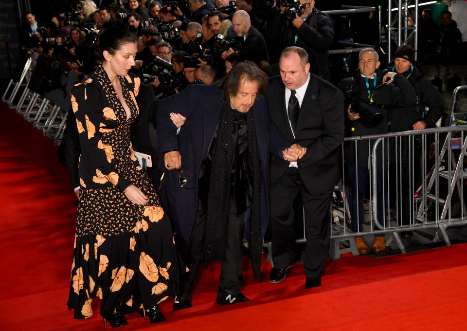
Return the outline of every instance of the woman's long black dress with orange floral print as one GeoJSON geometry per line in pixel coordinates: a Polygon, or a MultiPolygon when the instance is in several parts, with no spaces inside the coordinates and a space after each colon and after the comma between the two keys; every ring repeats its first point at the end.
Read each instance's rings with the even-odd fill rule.
{"type": "Polygon", "coordinates": [[[77,319],[92,315],[93,297],[112,313],[120,300],[149,309],[176,294],[179,265],[170,221],[129,138],[138,115],[140,80],[130,75],[119,79],[129,119],[102,65],[71,96],[82,149],[68,300],[77,319]],[[149,202],[131,203],[123,193],[130,184],[149,202]]]}

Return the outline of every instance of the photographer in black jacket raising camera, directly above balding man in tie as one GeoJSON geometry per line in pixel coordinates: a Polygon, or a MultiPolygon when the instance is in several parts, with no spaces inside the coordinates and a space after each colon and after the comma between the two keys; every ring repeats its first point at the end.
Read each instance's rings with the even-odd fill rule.
{"type": "MultiPolygon", "coordinates": [[[[271,50],[269,40],[267,41],[271,63],[278,61],[280,53],[286,47],[298,46],[305,49],[308,54],[310,72],[329,80],[328,49],[334,38],[334,23],[329,16],[314,8],[314,0],[300,0],[300,3],[305,7],[305,10],[302,15],[296,15],[292,21],[287,20],[284,15],[279,19],[280,14],[277,13],[277,9],[276,14],[271,14],[272,16],[268,20],[268,23],[273,26],[281,24],[279,29],[274,29],[273,26],[269,27],[272,32],[269,38],[277,39],[277,34],[273,33],[277,31],[279,31],[280,36],[280,44],[275,50],[271,50]]],[[[282,12],[286,9],[287,7],[281,5],[282,12]]]]}

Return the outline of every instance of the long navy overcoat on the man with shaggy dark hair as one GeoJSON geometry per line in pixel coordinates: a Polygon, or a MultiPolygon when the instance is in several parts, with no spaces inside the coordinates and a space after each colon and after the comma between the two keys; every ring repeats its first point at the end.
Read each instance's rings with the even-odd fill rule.
{"type": "MultiPolygon", "coordinates": [[[[222,95],[214,86],[188,85],[186,90],[162,100],[157,108],[157,133],[162,153],[179,150],[181,165],[189,173],[187,187],[198,187],[198,171],[206,158],[214,131],[222,110],[222,95]],[[177,128],[170,120],[170,112],[186,117],[177,136],[177,128]]],[[[290,144],[270,121],[264,97],[260,96],[249,111],[253,111],[256,140],[261,164],[260,219],[264,236],[269,221],[269,153],[282,157],[282,150],[290,144]]],[[[286,164],[285,161],[283,161],[286,164]]],[[[174,231],[183,239],[190,238],[195,221],[198,191],[180,187],[177,172],[165,171],[162,180],[161,199],[164,210],[172,220],[174,231]]],[[[245,213],[246,229],[249,229],[248,210],[245,213]]]]}

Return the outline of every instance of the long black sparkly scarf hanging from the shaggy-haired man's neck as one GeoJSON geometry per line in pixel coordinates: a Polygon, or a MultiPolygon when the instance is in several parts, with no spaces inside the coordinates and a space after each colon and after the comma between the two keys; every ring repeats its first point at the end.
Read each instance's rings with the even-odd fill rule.
{"type": "MultiPolygon", "coordinates": [[[[261,173],[256,144],[256,131],[253,111],[247,112],[248,161],[252,174],[253,194],[250,211],[249,249],[251,265],[255,278],[261,269],[261,225],[259,217],[259,196],[261,173]]],[[[230,106],[230,98],[222,104],[217,139],[213,152],[213,163],[209,179],[206,233],[204,237],[204,261],[209,264],[212,258],[225,258],[227,246],[227,229],[230,210],[230,173],[232,167],[232,131],[234,115],[230,106]]]]}

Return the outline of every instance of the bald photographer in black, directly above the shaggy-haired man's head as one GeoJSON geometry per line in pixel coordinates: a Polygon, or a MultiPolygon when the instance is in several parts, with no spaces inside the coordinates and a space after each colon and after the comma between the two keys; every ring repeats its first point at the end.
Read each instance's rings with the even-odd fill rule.
{"type": "MultiPolygon", "coordinates": [[[[261,33],[251,26],[250,15],[244,10],[237,11],[232,18],[232,25],[237,37],[242,43],[242,49],[239,51],[240,60],[249,60],[261,67],[261,62],[269,62],[268,49],[266,41],[261,33]]],[[[222,58],[234,53],[230,48],[222,54],[222,58]]]]}

